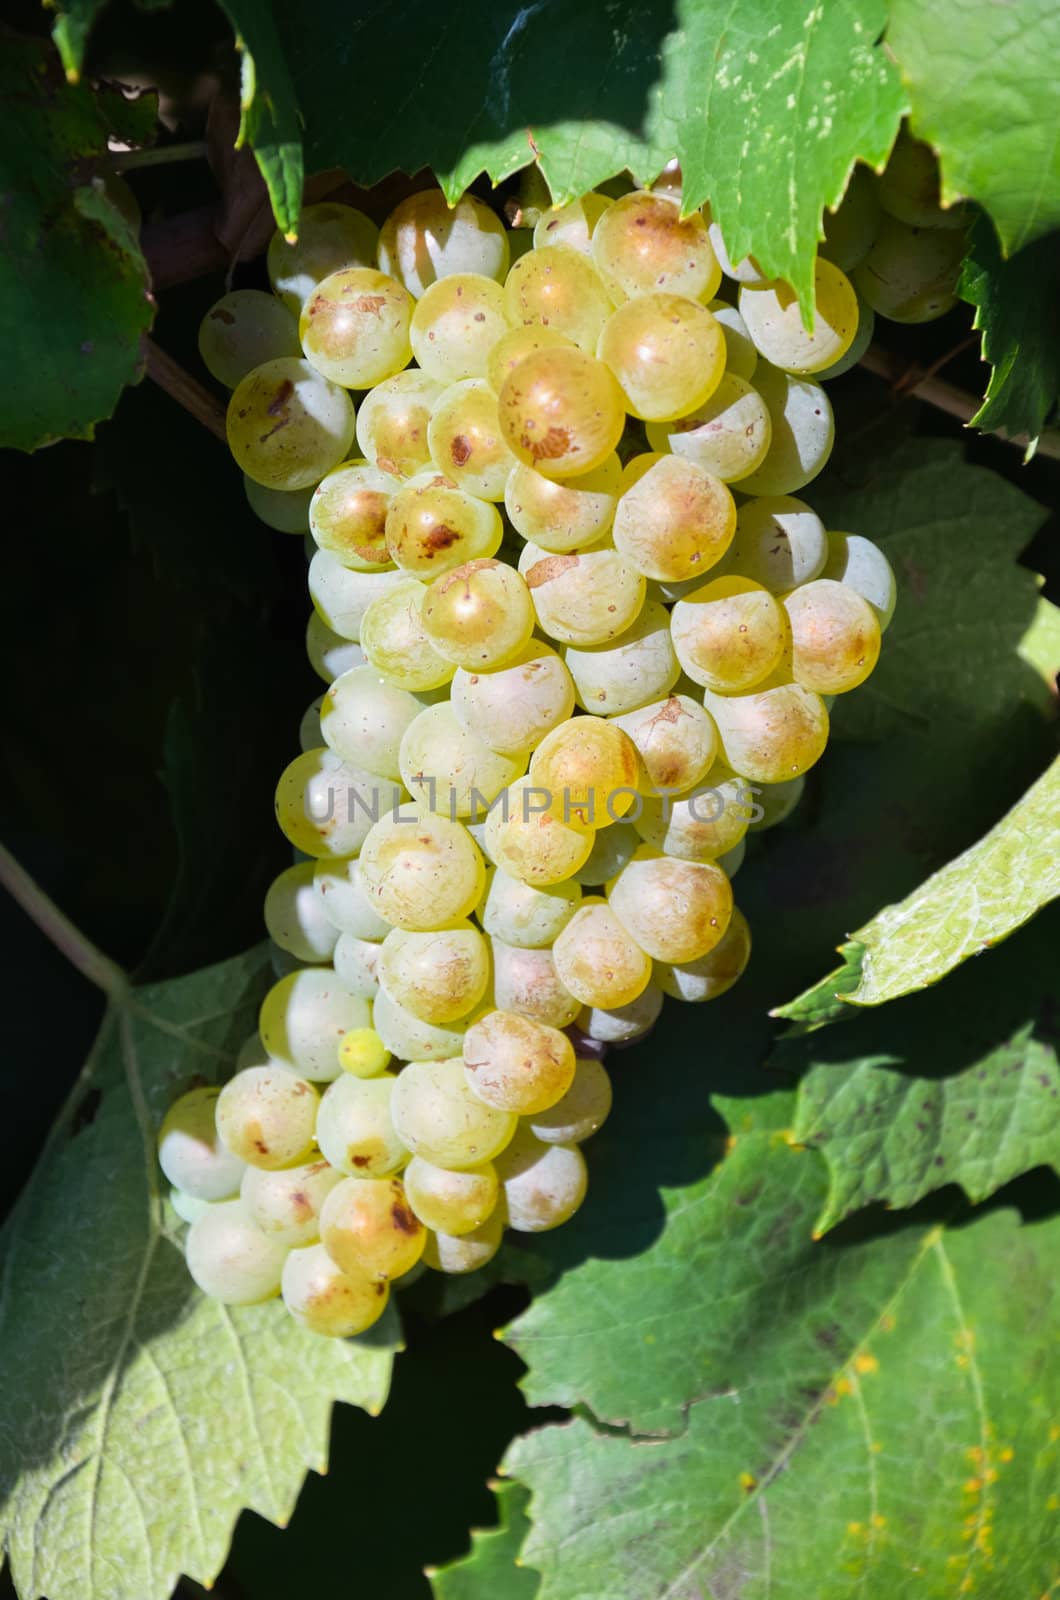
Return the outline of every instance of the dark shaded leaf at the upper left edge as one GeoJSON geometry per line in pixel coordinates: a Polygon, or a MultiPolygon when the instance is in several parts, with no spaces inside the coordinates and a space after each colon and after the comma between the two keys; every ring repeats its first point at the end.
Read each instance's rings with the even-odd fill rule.
{"type": "Polygon", "coordinates": [[[0,61],[0,445],[91,438],[139,376],[154,320],[136,235],[88,178],[107,138],[146,139],[154,98],[62,80],[45,43],[5,38],[0,61]]]}

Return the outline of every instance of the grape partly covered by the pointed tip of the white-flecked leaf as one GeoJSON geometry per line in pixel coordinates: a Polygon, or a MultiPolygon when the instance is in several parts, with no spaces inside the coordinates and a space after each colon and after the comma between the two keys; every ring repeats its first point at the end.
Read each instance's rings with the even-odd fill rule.
{"type": "Polygon", "coordinates": [[[813,330],[802,325],[796,291],[780,278],[740,290],[740,315],[756,349],[786,373],[820,373],[844,355],[857,333],[858,301],[837,266],[818,258],[813,267],[813,330]]]}

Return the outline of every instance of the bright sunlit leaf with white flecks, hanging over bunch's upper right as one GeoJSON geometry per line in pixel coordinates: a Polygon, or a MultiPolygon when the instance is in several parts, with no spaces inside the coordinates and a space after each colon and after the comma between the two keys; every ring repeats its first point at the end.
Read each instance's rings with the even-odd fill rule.
{"type": "Polygon", "coordinates": [[[679,0],[668,43],[685,206],[711,202],[732,261],[754,254],[813,304],[821,206],[858,157],[887,158],[905,110],[877,48],[882,0],[679,0]]]}

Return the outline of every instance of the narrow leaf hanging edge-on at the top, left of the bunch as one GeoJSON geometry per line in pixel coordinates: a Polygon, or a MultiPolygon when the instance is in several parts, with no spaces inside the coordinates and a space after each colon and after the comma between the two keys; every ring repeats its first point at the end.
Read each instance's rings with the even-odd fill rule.
{"type": "MultiPolygon", "coordinates": [[[[271,0],[221,0],[221,10],[243,58],[235,144],[251,146],[277,226],[296,234],[304,179],[301,112],[271,0]]],[[[315,86],[309,88],[315,94],[315,86]]]]}

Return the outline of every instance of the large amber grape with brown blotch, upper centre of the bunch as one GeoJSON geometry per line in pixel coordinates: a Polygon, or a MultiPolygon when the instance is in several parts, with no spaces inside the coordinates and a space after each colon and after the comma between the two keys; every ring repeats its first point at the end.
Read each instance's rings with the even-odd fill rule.
{"type": "MultiPolygon", "coordinates": [[[[564,254],[581,261],[573,250],[564,254]]],[[[626,426],[618,382],[604,362],[584,350],[535,350],[524,357],[504,379],[496,406],[512,454],[548,478],[584,477],[602,466],[626,426]]]]}

